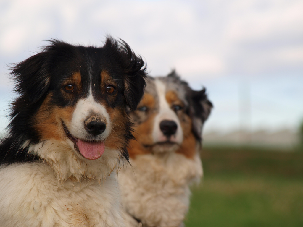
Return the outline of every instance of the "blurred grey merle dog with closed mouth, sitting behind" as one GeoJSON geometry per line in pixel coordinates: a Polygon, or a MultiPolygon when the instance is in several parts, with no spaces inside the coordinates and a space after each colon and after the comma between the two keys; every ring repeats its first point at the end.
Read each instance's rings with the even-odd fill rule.
{"type": "Polygon", "coordinates": [[[205,89],[191,90],[175,71],[149,78],[130,113],[137,140],[129,145],[132,168],[119,172],[123,206],[137,220],[130,226],[183,226],[189,185],[203,174],[201,132],[211,108],[205,89]]]}

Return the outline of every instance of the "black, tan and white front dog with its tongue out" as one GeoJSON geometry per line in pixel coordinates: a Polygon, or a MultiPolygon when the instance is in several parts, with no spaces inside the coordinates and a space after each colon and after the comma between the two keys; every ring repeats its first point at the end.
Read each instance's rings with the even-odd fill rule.
{"type": "Polygon", "coordinates": [[[100,48],[52,40],[12,67],[19,96],[0,145],[0,226],[125,226],[116,170],[128,162],[127,109],[143,95],[143,66],[108,38],[100,48]]]}

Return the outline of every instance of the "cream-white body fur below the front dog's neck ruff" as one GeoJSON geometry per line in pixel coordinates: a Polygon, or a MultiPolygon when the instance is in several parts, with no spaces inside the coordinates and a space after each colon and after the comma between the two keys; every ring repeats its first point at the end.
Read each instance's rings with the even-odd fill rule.
{"type": "Polygon", "coordinates": [[[0,226],[124,226],[117,175],[59,183],[43,163],[0,168],[0,226]]]}

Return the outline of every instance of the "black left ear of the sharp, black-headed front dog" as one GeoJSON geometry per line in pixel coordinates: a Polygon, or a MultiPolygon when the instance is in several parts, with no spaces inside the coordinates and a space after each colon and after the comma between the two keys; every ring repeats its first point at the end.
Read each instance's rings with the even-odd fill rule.
{"type": "Polygon", "coordinates": [[[15,91],[27,96],[31,103],[37,102],[50,84],[50,75],[45,70],[47,52],[31,56],[13,67],[12,77],[16,82],[15,91]]]}

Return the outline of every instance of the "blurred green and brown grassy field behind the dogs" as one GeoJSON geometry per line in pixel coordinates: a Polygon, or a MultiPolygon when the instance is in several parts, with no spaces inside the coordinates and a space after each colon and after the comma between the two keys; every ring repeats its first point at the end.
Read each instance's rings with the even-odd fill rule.
{"type": "Polygon", "coordinates": [[[208,148],[185,220],[195,226],[303,226],[303,153],[208,148]]]}

